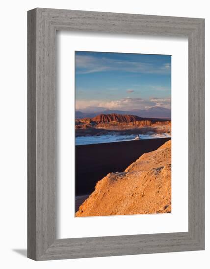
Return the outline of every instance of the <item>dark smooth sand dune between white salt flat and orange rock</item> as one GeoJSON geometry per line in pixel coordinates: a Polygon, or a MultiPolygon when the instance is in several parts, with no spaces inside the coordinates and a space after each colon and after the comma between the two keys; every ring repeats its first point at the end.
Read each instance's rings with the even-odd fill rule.
{"type": "MultiPolygon", "coordinates": [[[[76,196],[94,191],[108,173],[122,172],[142,154],[157,150],[171,138],[76,146],[76,196]]],[[[79,202],[77,202],[78,207],[79,202]]]]}

